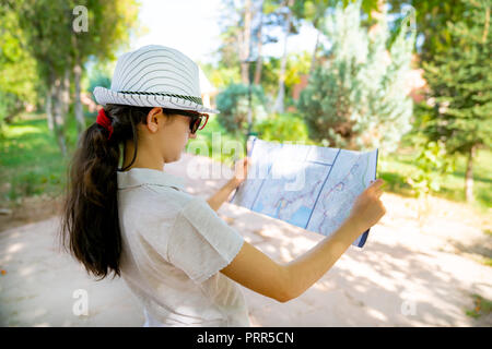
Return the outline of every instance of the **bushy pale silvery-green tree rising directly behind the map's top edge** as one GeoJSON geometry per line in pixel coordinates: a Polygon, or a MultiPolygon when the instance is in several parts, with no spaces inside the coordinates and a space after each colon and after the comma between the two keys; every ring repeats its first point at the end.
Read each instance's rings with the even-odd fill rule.
{"type": "Polygon", "coordinates": [[[354,149],[396,149],[410,130],[412,101],[405,92],[414,33],[405,25],[393,45],[386,15],[361,27],[361,2],[338,5],[327,17],[331,41],[326,60],[309,77],[298,109],[309,136],[325,144],[354,149]]]}

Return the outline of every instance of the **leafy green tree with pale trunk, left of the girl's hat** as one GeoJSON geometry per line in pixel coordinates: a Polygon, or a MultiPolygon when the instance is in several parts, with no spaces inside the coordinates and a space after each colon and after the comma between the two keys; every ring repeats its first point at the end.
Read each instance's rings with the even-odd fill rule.
{"type": "MultiPolygon", "coordinates": [[[[46,94],[46,115],[61,153],[67,154],[67,121],[71,79],[75,87],[75,115],[81,116],[80,80],[89,57],[113,59],[137,21],[134,0],[7,0],[4,13],[15,15],[21,47],[36,61],[40,89],[46,94]],[[82,5],[82,12],[75,8],[82,5]],[[82,16],[81,31],[75,31],[82,16]],[[130,32],[129,32],[130,31],[130,32]]],[[[2,12],[3,13],[3,12],[2,12]]],[[[3,27],[3,21],[0,24],[3,27]]]]}

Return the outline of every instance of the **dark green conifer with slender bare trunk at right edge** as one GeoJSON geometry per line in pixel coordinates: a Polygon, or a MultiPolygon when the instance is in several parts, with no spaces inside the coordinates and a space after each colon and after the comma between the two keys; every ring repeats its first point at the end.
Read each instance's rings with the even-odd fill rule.
{"type": "Polygon", "coordinates": [[[447,154],[467,157],[465,192],[473,200],[473,158],[492,144],[491,1],[466,1],[461,20],[447,22],[449,48],[424,62],[430,93],[417,128],[447,154]]]}

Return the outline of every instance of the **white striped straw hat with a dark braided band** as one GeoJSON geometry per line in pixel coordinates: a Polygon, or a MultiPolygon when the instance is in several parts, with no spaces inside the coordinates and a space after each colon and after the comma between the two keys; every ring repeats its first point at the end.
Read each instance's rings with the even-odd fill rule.
{"type": "Polygon", "coordinates": [[[122,55],[116,63],[112,88],[97,86],[99,105],[163,107],[219,113],[201,100],[198,65],[178,50],[149,45],[122,55]]]}

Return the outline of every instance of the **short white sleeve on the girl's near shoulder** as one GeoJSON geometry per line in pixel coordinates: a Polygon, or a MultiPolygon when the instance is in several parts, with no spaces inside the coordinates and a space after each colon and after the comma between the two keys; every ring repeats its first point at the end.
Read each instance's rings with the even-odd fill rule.
{"type": "Polygon", "coordinates": [[[167,257],[195,282],[201,284],[227,266],[244,238],[230,227],[202,197],[189,201],[176,217],[167,257]]]}

